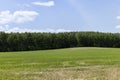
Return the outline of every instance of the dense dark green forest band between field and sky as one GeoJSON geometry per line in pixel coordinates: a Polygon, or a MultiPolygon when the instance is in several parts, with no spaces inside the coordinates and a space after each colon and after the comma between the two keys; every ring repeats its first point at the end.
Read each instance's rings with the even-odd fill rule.
{"type": "Polygon", "coordinates": [[[4,33],[0,32],[0,51],[46,50],[70,47],[120,47],[119,33],[4,33]]]}

